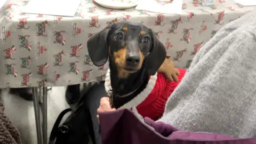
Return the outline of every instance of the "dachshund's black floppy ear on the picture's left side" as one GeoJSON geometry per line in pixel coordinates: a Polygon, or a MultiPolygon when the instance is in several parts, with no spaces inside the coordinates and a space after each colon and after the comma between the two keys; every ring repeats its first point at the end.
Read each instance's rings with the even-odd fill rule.
{"type": "Polygon", "coordinates": [[[87,49],[93,65],[100,67],[108,60],[108,32],[110,26],[93,34],[87,41],[87,49]]]}

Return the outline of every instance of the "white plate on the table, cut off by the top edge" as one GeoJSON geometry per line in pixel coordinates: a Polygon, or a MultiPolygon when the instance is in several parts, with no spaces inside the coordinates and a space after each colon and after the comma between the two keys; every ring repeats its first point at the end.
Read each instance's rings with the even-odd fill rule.
{"type": "Polygon", "coordinates": [[[136,6],[138,0],[94,0],[94,2],[109,9],[129,9],[136,6]]]}

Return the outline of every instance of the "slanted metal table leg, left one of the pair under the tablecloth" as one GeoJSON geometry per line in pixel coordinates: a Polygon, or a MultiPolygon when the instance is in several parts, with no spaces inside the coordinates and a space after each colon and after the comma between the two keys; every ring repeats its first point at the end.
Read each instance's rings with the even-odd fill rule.
{"type": "Polygon", "coordinates": [[[40,122],[40,106],[37,94],[37,87],[33,87],[32,90],[33,94],[33,102],[34,102],[34,109],[35,109],[35,119],[36,119],[36,133],[37,133],[37,143],[42,144],[42,131],[41,131],[41,122],[40,122]]]}

